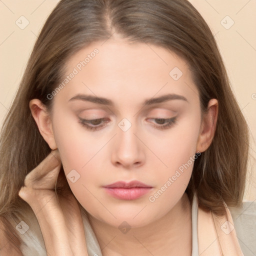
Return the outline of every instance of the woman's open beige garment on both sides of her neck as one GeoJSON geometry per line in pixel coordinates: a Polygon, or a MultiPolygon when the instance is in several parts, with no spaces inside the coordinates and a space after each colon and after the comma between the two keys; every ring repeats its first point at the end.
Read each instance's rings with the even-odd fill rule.
{"type": "MultiPolygon", "coordinates": [[[[234,208],[230,210],[232,215],[230,214],[229,209],[226,208],[226,215],[217,218],[214,214],[211,214],[210,211],[205,212],[198,208],[197,197],[193,197],[191,205],[191,256],[256,255],[256,201],[244,202],[241,209],[234,208]],[[233,225],[235,229],[232,229],[233,225]],[[248,232],[243,232],[244,226],[248,232]],[[235,232],[236,227],[237,234],[235,232]],[[242,245],[243,251],[241,250],[239,243],[242,245]]],[[[27,246],[23,245],[21,251],[24,256],[46,256],[45,246],[37,219],[31,211],[29,214],[29,229],[24,234],[20,234],[20,237],[26,242],[27,246]]],[[[82,213],[82,218],[88,255],[102,256],[97,238],[84,213],[82,213]]]]}

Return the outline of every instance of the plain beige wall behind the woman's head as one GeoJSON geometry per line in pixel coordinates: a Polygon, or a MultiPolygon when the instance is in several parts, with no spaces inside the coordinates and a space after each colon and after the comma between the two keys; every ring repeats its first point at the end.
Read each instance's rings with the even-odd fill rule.
{"type": "MultiPolygon", "coordinates": [[[[57,2],[0,0],[0,126],[16,92],[36,35],[57,2]],[[22,27],[26,23],[27,26],[22,27]]],[[[190,2],[215,35],[234,94],[249,124],[251,156],[244,200],[256,200],[256,1],[190,2]]]]}

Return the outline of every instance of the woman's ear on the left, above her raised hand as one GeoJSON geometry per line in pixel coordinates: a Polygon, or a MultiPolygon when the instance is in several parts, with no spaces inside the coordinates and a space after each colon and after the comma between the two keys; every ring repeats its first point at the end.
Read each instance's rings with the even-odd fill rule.
{"type": "Polygon", "coordinates": [[[56,149],[57,145],[53,135],[51,119],[46,107],[39,99],[34,98],[29,101],[29,108],[42,137],[52,150],[56,149]]]}

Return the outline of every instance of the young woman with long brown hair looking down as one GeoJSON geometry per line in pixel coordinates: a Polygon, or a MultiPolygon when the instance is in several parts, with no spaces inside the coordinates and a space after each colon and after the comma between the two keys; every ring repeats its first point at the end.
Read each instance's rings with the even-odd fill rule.
{"type": "Polygon", "coordinates": [[[2,128],[1,254],[243,255],[247,157],[188,1],[61,0],[2,128]]]}

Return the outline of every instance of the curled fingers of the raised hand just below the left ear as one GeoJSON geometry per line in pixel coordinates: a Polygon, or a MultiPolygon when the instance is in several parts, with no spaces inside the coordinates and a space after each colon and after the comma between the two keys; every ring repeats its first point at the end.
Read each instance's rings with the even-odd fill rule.
{"type": "Polygon", "coordinates": [[[52,189],[61,166],[58,149],[52,150],[24,180],[24,185],[32,188],[52,189]]]}

